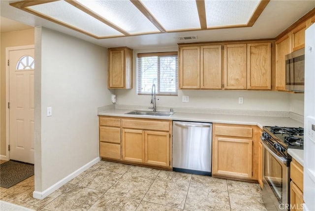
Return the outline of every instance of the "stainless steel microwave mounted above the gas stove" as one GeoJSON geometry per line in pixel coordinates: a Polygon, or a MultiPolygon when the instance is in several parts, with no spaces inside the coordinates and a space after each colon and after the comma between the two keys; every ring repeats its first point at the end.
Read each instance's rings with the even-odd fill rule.
{"type": "Polygon", "coordinates": [[[285,89],[304,92],[304,48],[285,55],[285,89]]]}

